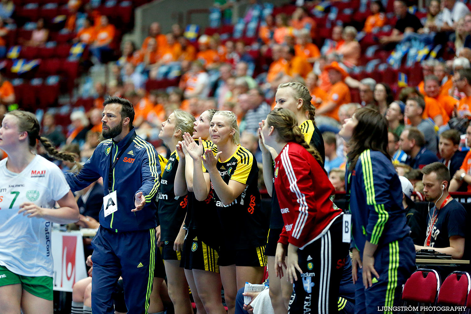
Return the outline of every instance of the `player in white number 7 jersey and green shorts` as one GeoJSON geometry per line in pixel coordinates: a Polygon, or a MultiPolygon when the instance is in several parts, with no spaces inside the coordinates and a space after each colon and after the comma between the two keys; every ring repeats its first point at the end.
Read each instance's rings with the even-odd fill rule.
{"type": "Polygon", "coordinates": [[[58,160],[32,113],[7,113],[0,128],[0,314],[52,314],[51,223],[79,219],[79,209],[61,170],[34,152],[36,140],[58,160]],[[60,208],[53,209],[55,202],[60,208]]]}

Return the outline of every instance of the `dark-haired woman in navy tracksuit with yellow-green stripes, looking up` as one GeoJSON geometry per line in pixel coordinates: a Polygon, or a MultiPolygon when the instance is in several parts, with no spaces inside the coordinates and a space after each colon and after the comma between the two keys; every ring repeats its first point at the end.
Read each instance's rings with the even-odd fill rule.
{"type": "Polygon", "coordinates": [[[401,182],[388,154],[388,122],[381,113],[357,109],[339,135],[350,147],[345,183],[352,213],[355,308],[377,313],[379,307],[400,303],[402,284],[415,266],[401,182]],[[357,280],[360,276],[363,280],[357,280]]]}

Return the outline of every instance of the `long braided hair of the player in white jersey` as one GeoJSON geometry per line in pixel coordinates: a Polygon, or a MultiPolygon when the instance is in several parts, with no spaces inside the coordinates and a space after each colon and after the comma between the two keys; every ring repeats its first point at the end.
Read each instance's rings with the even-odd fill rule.
{"type": "Polygon", "coordinates": [[[28,144],[31,148],[36,146],[36,140],[39,140],[40,143],[44,146],[49,156],[60,161],[70,161],[75,162],[77,167],[80,169],[81,165],[79,162],[75,161],[75,158],[78,158],[75,153],[59,152],[56,147],[47,139],[46,137],[41,137],[39,132],[41,127],[39,125],[38,119],[33,113],[14,110],[7,113],[6,115],[15,116],[18,119],[18,131],[28,133],[28,144]]]}

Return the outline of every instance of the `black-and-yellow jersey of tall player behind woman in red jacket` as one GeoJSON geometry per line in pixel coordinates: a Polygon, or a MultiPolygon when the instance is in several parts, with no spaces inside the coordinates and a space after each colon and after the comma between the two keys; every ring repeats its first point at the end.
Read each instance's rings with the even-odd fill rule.
{"type": "MultiPolygon", "coordinates": [[[[304,140],[309,145],[316,147],[317,151],[322,157],[322,162],[325,162],[325,150],[324,150],[324,139],[322,138],[322,133],[319,131],[316,125],[312,120],[306,120],[300,125],[301,132],[304,134],[304,140]]],[[[273,163],[273,168],[275,169],[275,163],[273,163]]],[[[281,229],[283,228],[284,222],[283,217],[281,216],[280,204],[278,203],[278,198],[276,197],[275,192],[275,178],[273,178],[273,189],[271,197],[271,219],[270,219],[270,229],[281,229]]]]}

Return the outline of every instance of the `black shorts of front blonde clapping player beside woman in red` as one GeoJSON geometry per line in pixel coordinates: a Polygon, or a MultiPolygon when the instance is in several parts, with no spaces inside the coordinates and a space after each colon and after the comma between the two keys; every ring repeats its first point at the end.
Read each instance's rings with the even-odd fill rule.
{"type": "Polygon", "coordinates": [[[229,246],[219,250],[219,266],[267,266],[265,245],[248,249],[231,249],[229,246]]]}

